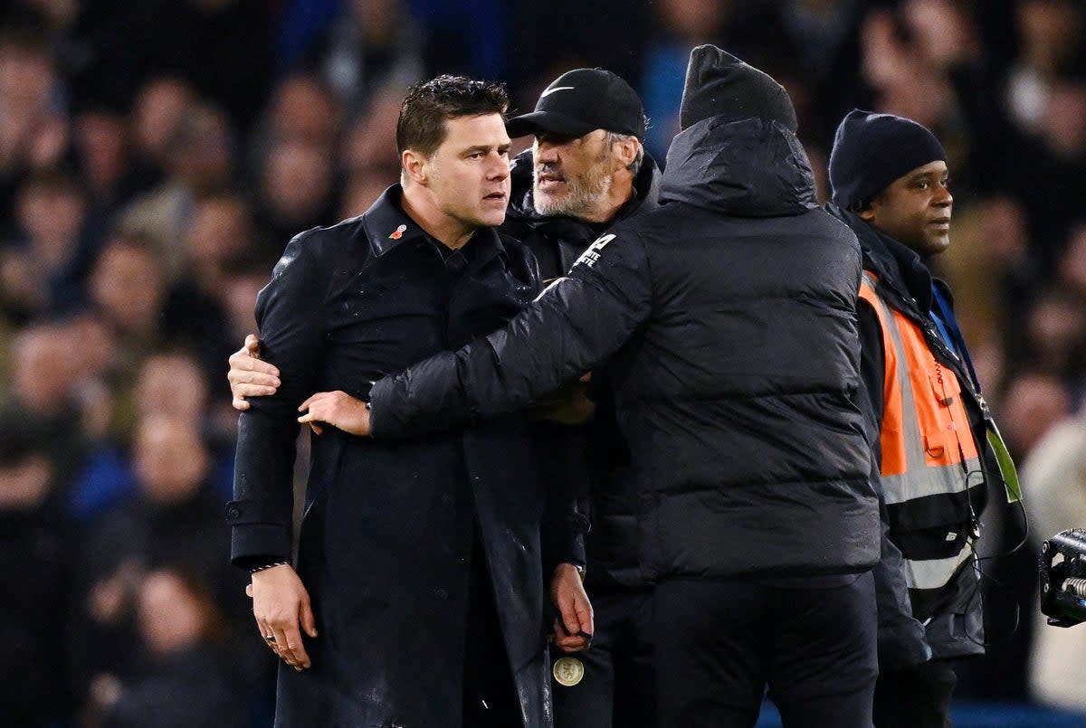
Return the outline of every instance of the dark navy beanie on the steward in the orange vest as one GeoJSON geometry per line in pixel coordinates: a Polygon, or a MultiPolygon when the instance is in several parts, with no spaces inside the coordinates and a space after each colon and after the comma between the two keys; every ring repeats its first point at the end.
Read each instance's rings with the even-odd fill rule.
{"type": "Polygon", "coordinates": [[[935,135],[912,119],[854,108],[837,127],[830,152],[833,202],[853,209],[917,167],[946,158],[935,135]]]}

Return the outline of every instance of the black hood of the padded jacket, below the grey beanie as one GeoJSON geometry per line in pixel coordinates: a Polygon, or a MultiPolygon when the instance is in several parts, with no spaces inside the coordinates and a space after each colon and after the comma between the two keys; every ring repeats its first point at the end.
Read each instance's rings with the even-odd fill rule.
{"type": "Polygon", "coordinates": [[[668,149],[660,202],[736,217],[799,215],[818,207],[803,144],[780,122],[714,116],[681,131],[668,149]]]}

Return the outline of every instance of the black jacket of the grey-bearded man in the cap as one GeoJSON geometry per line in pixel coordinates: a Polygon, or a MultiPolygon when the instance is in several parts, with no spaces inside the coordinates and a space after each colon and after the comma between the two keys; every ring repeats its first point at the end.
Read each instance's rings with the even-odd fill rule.
{"type": "MultiPolygon", "coordinates": [[[[501,230],[531,250],[544,282],[564,276],[608,228],[658,204],[660,170],[647,154],[633,180],[633,196],[607,222],[536,213],[531,150],[518,154],[512,169],[513,192],[501,230]]],[[[596,411],[589,424],[540,422],[534,427],[543,451],[541,472],[547,485],[548,508],[564,511],[546,520],[544,539],[548,548],[544,553],[550,551],[556,562],[586,563],[586,583],[593,596],[617,586],[644,585],[637,564],[637,498],[629,472],[630,451],[615,420],[607,378],[606,369],[593,373],[591,388],[596,411]],[[561,484],[565,490],[552,487],[561,484]],[[563,496],[572,505],[561,502],[563,496]],[[582,538],[590,519],[591,529],[582,538]]]]}

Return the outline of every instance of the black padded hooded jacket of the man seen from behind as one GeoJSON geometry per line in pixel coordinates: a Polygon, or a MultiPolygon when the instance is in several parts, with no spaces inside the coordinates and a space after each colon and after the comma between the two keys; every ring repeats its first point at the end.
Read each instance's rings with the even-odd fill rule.
{"type": "Polygon", "coordinates": [[[505,329],[377,382],[372,435],[507,412],[614,357],[647,578],[870,570],[855,235],[795,135],[756,118],[679,135],[660,200],[505,329]]]}

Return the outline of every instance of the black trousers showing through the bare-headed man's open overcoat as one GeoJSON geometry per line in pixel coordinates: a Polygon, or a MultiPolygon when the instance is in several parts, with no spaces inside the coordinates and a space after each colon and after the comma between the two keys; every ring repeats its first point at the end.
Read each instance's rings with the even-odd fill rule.
{"type": "Polygon", "coordinates": [[[464,649],[464,728],[522,726],[520,701],[497,620],[487,557],[476,533],[464,649]]]}

